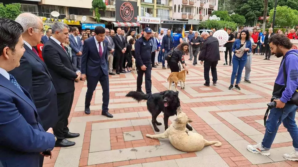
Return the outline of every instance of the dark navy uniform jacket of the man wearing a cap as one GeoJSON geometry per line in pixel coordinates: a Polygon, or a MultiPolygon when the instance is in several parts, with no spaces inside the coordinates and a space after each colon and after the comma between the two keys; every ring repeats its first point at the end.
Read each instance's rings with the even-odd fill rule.
{"type": "Polygon", "coordinates": [[[136,56],[136,64],[138,66],[142,66],[147,63],[151,63],[151,50],[152,50],[152,37],[147,41],[145,37],[141,37],[136,40],[134,44],[135,48],[135,56],[136,56]]]}

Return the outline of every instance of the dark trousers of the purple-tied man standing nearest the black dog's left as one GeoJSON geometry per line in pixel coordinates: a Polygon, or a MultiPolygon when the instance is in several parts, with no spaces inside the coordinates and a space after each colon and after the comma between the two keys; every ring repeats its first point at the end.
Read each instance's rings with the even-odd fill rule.
{"type": "Polygon", "coordinates": [[[93,96],[93,92],[97,86],[98,81],[103,90],[103,105],[102,105],[102,112],[108,112],[108,105],[110,100],[110,92],[109,92],[109,77],[105,75],[100,69],[100,73],[96,76],[86,75],[87,78],[87,92],[85,97],[85,108],[90,106],[90,102],[93,96]]]}

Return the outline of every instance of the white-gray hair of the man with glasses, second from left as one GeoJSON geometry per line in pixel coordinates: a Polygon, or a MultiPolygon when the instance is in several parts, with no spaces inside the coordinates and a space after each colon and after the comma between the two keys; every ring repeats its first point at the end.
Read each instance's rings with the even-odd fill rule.
{"type": "Polygon", "coordinates": [[[40,18],[38,18],[36,15],[33,15],[32,13],[21,13],[15,19],[15,21],[20,23],[23,27],[24,33],[26,33],[30,27],[34,28],[34,32],[36,33],[37,28],[40,26],[39,20],[40,18]]]}

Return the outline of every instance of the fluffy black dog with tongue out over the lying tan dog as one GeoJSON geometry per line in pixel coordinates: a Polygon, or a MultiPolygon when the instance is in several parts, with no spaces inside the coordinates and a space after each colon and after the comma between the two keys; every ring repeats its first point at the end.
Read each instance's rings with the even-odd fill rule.
{"type": "MultiPolygon", "coordinates": [[[[157,122],[156,118],[161,112],[164,113],[164,130],[166,130],[168,128],[169,117],[177,115],[177,108],[180,106],[178,94],[179,92],[174,92],[172,90],[154,93],[152,95],[131,91],[126,94],[126,97],[132,97],[138,102],[147,100],[147,108],[152,115],[152,124],[154,130],[159,132],[159,129],[156,127],[156,125],[162,125],[162,123],[157,122]]],[[[193,128],[188,124],[186,127],[188,130],[193,130],[193,128]]]]}

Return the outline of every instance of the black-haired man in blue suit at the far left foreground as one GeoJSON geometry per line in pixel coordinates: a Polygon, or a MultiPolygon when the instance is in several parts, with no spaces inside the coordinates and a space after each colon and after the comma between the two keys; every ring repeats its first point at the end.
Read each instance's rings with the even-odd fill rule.
{"type": "Polygon", "coordinates": [[[0,166],[36,167],[40,154],[52,154],[55,136],[38,123],[30,94],[8,73],[20,66],[25,51],[22,26],[1,18],[0,32],[0,166]]]}

